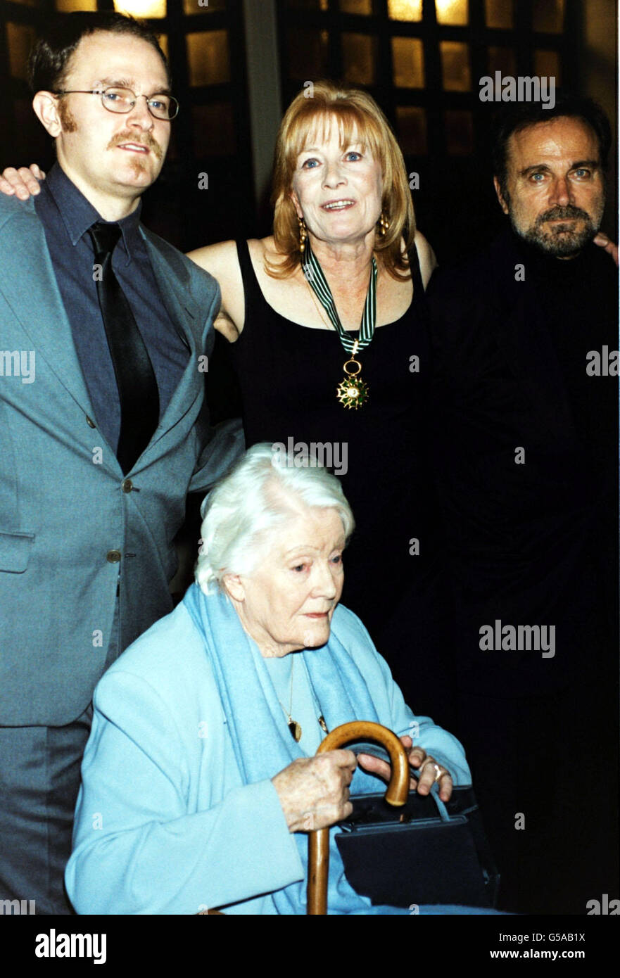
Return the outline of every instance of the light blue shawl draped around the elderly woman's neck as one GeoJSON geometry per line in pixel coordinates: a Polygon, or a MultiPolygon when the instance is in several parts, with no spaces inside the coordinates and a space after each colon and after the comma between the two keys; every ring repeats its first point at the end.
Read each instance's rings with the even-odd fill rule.
{"type": "MultiPolygon", "coordinates": [[[[283,723],[282,709],[258,646],[246,635],[235,608],[223,594],[205,596],[193,585],[184,603],[204,641],[244,783],[273,778],[295,758],[305,755],[283,723]]],[[[328,645],[291,653],[304,659],[329,730],[356,719],[381,722],[366,680],[346,647],[347,636],[359,645],[362,634],[366,635],[358,619],[340,606],[332,616],[328,645]]],[[[351,793],[380,791],[381,785],[377,778],[365,775],[358,768],[351,793]]],[[[329,912],[409,912],[371,907],[370,900],[352,889],[344,876],[333,834],[334,830],[330,838],[329,912]]],[[[306,911],[308,836],[297,832],[295,841],[304,867],[304,881],[273,894],[279,913],[306,911]]]]}

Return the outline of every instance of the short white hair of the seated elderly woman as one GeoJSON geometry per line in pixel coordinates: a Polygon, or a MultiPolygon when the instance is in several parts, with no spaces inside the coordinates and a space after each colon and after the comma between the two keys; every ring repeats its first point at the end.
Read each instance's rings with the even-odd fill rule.
{"type": "Polygon", "coordinates": [[[195,576],[204,594],[225,574],[250,575],[269,531],[305,507],[337,511],[348,540],[355,520],[335,475],[266,442],[248,449],[203,505],[195,576]]]}

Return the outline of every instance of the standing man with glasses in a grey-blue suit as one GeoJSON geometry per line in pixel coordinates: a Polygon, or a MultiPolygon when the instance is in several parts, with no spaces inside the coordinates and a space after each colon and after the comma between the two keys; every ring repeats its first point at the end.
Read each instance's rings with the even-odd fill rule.
{"type": "Polygon", "coordinates": [[[155,35],[66,15],[30,70],[58,161],[0,200],[0,901],[67,913],[93,689],[171,609],[186,494],[243,443],[203,406],[217,283],[139,220],[177,111],[155,35]]]}

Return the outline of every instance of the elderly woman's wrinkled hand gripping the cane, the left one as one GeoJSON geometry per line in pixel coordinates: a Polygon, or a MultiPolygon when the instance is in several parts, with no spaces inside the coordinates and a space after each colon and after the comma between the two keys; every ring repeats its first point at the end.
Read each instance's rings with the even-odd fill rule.
{"type": "Polygon", "coordinates": [[[352,750],[328,750],[316,757],[299,757],[272,778],[288,830],[311,832],[349,816],[353,811],[349,784],[356,767],[352,750]]]}

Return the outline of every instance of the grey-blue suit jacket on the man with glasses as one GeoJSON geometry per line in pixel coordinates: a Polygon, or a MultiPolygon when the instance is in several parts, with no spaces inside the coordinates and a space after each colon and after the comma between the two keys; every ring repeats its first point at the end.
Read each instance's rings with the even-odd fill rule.
{"type": "Polygon", "coordinates": [[[57,726],[104,671],[120,568],[120,647],[171,609],[188,491],[243,450],[209,431],[204,361],[219,287],[142,228],[191,357],[127,480],[94,409],[32,200],[0,197],[0,725],[57,726]],[[117,555],[111,552],[118,552],[117,555]]]}

